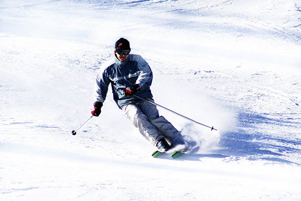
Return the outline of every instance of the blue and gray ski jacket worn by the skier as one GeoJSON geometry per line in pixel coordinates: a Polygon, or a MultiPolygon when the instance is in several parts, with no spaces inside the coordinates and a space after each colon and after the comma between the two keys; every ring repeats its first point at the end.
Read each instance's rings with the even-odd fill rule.
{"type": "Polygon", "coordinates": [[[103,63],[96,76],[95,97],[96,102],[103,103],[111,83],[113,98],[121,109],[127,104],[135,104],[141,99],[126,96],[123,90],[133,84],[139,84],[140,90],[135,95],[142,98],[152,98],[149,86],[153,81],[153,72],[146,61],[136,54],[129,54],[124,62],[116,57],[103,63]]]}

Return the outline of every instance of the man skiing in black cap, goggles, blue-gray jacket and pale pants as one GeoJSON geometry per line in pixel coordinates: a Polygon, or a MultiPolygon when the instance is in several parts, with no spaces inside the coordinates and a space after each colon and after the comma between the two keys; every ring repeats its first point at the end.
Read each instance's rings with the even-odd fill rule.
{"type": "Polygon", "coordinates": [[[128,40],[120,38],[115,43],[114,58],[101,65],[96,76],[96,102],[92,115],[100,115],[111,84],[113,98],[122,114],[159,151],[166,152],[177,145],[185,145],[181,133],[163,116],[159,116],[156,105],[136,97],[154,102],[149,88],[153,72],[140,55],[129,54],[130,50],[128,40]]]}

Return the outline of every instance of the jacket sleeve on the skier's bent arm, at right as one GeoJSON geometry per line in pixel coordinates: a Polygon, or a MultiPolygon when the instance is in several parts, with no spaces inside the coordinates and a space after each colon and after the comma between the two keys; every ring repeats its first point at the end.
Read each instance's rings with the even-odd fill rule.
{"type": "Polygon", "coordinates": [[[139,84],[140,88],[149,87],[153,81],[153,72],[141,56],[139,56],[137,60],[137,68],[138,78],[136,80],[136,84],[139,84]]]}

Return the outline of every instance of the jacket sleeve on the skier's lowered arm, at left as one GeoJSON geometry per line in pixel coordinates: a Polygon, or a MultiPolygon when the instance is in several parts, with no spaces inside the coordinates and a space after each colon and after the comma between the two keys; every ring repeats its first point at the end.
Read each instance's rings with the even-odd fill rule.
{"type": "Polygon", "coordinates": [[[96,83],[95,83],[95,92],[94,92],[94,96],[96,98],[95,102],[100,102],[103,103],[105,98],[106,98],[106,94],[108,92],[108,86],[110,84],[110,80],[107,76],[106,70],[102,69],[102,67],[100,68],[99,72],[96,75],[96,83]]]}

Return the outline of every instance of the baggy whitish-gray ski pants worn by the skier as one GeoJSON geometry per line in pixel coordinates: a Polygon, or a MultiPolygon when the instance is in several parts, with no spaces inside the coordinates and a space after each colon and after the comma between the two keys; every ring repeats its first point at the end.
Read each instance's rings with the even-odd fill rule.
{"type": "MultiPolygon", "coordinates": [[[[154,102],[153,99],[148,100],[154,102]]],[[[172,146],[185,144],[181,133],[163,116],[159,116],[157,106],[154,104],[142,100],[138,104],[122,107],[122,113],[154,146],[164,137],[171,141],[172,146]]]]}

